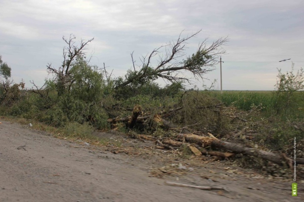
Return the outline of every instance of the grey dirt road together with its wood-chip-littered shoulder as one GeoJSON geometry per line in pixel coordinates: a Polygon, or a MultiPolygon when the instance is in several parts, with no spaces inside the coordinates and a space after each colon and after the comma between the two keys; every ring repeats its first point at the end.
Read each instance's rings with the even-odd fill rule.
{"type": "MultiPolygon", "coordinates": [[[[134,140],[123,145],[124,152],[114,154],[109,148],[61,140],[27,126],[1,122],[1,202],[304,201],[303,191],[292,197],[287,190],[292,179],[268,179],[255,171],[208,159],[183,160],[170,151],[144,149],[150,143],[141,145],[134,140]],[[178,169],[180,166],[183,169],[178,169]],[[226,187],[229,192],[173,187],[165,181],[226,187]]],[[[111,134],[105,136],[111,138],[111,134]]],[[[301,180],[298,188],[304,188],[301,180]]]]}

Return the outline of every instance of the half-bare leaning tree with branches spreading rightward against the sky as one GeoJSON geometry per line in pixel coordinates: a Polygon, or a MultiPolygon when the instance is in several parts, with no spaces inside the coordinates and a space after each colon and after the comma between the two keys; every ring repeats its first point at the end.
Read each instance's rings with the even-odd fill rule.
{"type": "Polygon", "coordinates": [[[228,41],[227,38],[219,38],[211,45],[207,46],[207,39],[199,44],[198,50],[186,59],[178,60],[184,56],[183,51],[186,49],[186,42],[195,37],[198,33],[195,32],[185,38],[179,35],[177,41],[171,42],[154,49],[150,55],[142,58],[142,65],[136,71],[135,61],[133,60],[133,53],[131,54],[133,62],[132,74],[129,75],[123,82],[118,84],[115,88],[124,87],[136,81],[145,81],[147,79],[155,80],[163,78],[171,82],[190,81],[189,78],[181,76],[183,71],[191,72],[195,78],[202,78],[207,72],[214,70],[214,65],[217,63],[217,58],[220,54],[224,54],[222,46],[228,41]],[[164,56],[161,56],[161,49],[165,49],[164,56]],[[152,59],[159,56],[158,65],[151,67],[152,59]]]}

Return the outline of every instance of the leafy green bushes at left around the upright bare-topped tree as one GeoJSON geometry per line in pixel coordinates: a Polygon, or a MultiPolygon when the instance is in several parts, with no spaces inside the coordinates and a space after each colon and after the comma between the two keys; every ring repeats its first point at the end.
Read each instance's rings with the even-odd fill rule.
{"type": "Polygon", "coordinates": [[[95,66],[78,58],[70,68],[71,83],[63,94],[58,94],[58,80],[45,81],[41,89],[32,89],[21,96],[20,87],[24,84],[12,85],[2,104],[12,106],[10,115],[35,119],[54,127],[64,127],[69,122],[89,123],[92,127],[103,129],[108,127],[108,115],[103,108],[103,100],[110,102],[111,87],[105,86],[103,75],[95,66]],[[22,99],[21,99],[22,98],[22,99]]]}

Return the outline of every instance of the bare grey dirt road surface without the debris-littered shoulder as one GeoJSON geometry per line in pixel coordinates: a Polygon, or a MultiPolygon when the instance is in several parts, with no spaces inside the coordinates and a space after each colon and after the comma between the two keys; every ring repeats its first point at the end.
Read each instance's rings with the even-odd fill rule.
{"type": "MultiPolygon", "coordinates": [[[[1,202],[303,201],[300,191],[302,197],[292,198],[291,191],[273,188],[279,184],[244,177],[219,179],[214,185],[227,187],[229,193],[172,187],[164,184],[165,179],[149,177],[151,166],[153,162],[93,150],[16,123],[0,124],[1,202]]],[[[196,185],[206,184],[198,172],[196,169],[187,179],[193,179],[196,185]]]]}

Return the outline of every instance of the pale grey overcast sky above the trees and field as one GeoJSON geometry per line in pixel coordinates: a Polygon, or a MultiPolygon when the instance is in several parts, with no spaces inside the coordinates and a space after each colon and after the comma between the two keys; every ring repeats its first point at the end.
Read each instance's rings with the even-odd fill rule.
{"type": "MultiPolygon", "coordinates": [[[[62,62],[62,36],[95,38],[87,49],[91,64],[108,66],[115,76],[140,56],[182,36],[202,30],[188,41],[186,54],[200,41],[228,36],[222,55],[223,90],[273,90],[277,68],[304,66],[303,0],[0,0],[0,55],[23,78],[42,85],[46,65],[62,62]],[[278,62],[291,58],[289,61],[278,62]]],[[[217,79],[219,64],[205,75],[217,79]]],[[[195,81],[202,88],[201,81],[195,81]]],[[[209,82],[206,80],[206,84],[209,82]]]]}

